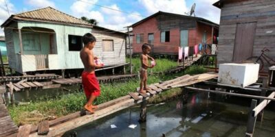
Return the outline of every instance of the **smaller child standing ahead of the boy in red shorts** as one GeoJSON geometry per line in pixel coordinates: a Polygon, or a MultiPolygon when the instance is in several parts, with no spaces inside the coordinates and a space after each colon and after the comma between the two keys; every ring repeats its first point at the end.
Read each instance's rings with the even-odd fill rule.
{"type": "Polygon", "coordinates": [[[153,58],[151,58],[148,53],[150,53],[151,51],[151,47],[150,45],[148,45],[147,43],[144,43],[144,45],[142,45],[142,54],[140,55],[140,61],[142,66],[140,67],[140,92],[142,93],[146,93],[145,90],[148,90],[147,87],[147,69],[148,68],[153,68],[152,65],[149,66],[148,64],[148,58],[151,60],[154,60],[153,58]]]}

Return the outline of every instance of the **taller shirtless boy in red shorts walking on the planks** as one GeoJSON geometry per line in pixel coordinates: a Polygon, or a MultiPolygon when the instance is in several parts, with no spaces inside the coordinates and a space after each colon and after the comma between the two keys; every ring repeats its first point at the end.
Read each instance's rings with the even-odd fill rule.
{"type": "Polygon", "coordinates": [[[95,69],[101,66],[94,63],[94,53],[91,51],[96,45],[96,38],[92,34],[87,33],[83,36],[83,44],[84,47],[80,51],[80,58],[84,65],[84,71],[81,77],[87,97],[87,103],[84,108],[93,114],[94,109],[98,108],[97,105],[93,105],[94,99],[100,95],[100,86],[95,75],[95,69]]]}

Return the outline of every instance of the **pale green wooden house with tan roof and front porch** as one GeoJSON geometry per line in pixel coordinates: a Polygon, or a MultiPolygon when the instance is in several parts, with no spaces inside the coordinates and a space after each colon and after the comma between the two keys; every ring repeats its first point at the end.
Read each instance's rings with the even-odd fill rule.
{"type": "Polygon", "coordinates": [[[125,35],[93,26],[54,8],[14,14],[5,21],[5,40],[10,68],[19,73],[45,70],[83,69],[82,36],[97,38],[94,54],[106,66],[125,63],[125,35]]]}

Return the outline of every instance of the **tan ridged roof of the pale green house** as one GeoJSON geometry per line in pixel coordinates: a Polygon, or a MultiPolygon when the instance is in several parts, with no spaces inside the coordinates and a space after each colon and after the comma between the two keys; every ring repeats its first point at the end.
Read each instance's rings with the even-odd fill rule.
{"type": "Polygon", "coordinates": [[[80,18],[70,16],[61,11],[58,11],[52,7],[41,8],[38,10],[32,10],[29,12],[23,12],[20,14],[14,14],[8,18],[1,27],[5,27],[10,21],[23,20],[23,21],[37,21],[37,22],[47,22],[47,23],[57,23],[65,25],[80,25],[83,27],[93,27],[91,23],[83,21],[80,18]]]}

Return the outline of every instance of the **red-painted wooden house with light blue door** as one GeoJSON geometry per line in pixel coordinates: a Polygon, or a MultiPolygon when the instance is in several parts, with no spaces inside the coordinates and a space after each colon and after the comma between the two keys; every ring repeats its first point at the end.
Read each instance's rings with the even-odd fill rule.
{"type": "Polygon", "coordinates": [[[204,18],[157,12],[131,25],[133,27],[133,53],[142,52],[144,42],[153,45],[155,54],[177,55],[180,47],[193,47],[199,43],[213,44],[218,37],[219,25],[204,18]]]}

